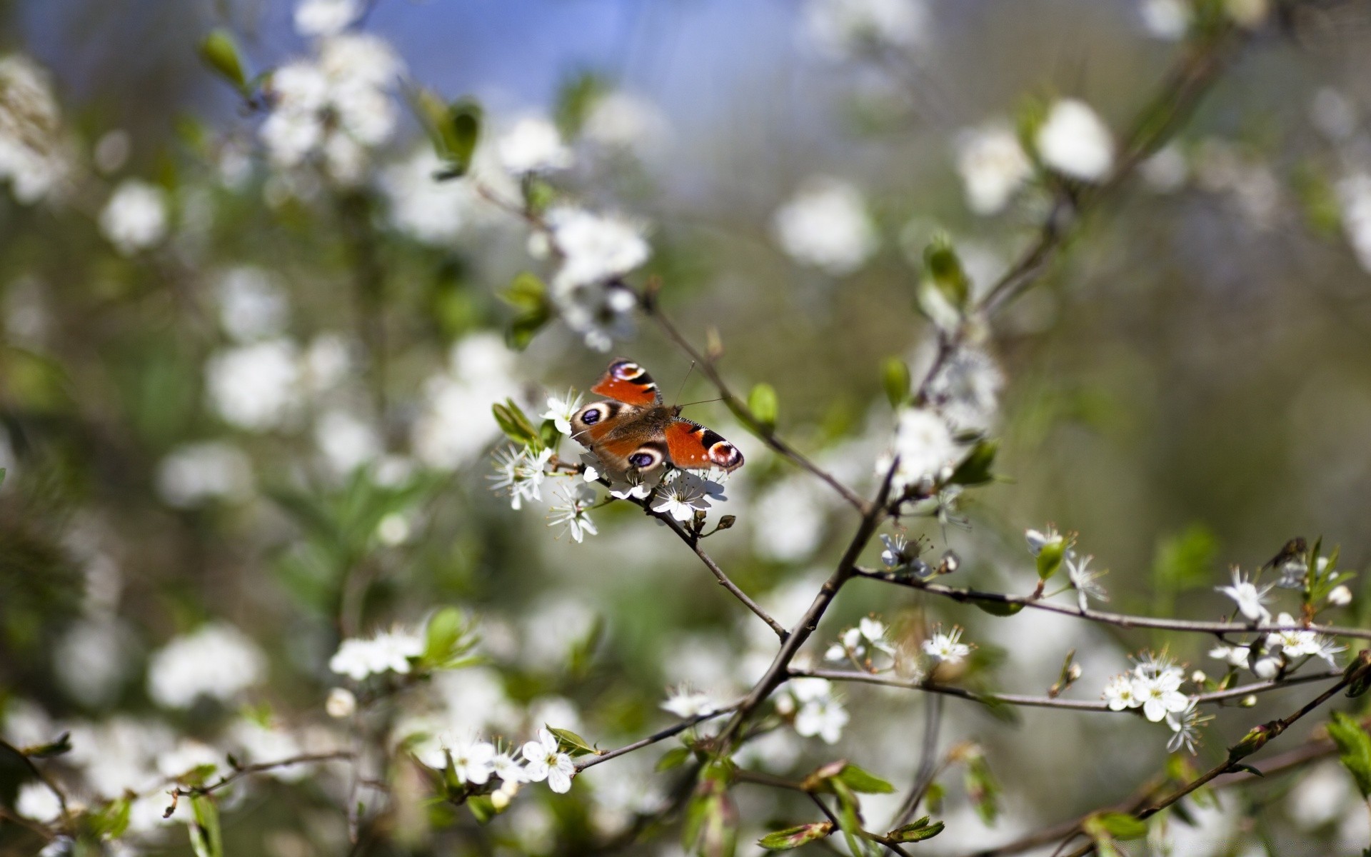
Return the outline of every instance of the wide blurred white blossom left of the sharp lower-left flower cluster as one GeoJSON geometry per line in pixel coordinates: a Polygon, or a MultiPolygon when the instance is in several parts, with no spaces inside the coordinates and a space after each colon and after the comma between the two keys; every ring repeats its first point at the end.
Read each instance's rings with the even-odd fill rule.
{"type": "Polygon", "coordinates": [[[233,625],[208,624],[174,638],[148,662],[148,695],[185,709],[197,697],[228,702],[266,677],[266,655],[233,625]]]}

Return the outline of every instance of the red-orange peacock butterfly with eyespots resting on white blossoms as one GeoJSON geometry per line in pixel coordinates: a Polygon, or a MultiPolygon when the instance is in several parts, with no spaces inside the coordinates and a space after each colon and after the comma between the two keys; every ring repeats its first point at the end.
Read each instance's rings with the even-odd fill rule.
{"type": "Polygon", "coordinates": [[[606,470],[642,483],[666,469],[743,466],[743,454],[718,432],[681,417],[680,405],[662,405],[653,376],[633,361],[609,365],[591,392],[609,396],[572,417],[572,437],[600,459],[606,470]]]}

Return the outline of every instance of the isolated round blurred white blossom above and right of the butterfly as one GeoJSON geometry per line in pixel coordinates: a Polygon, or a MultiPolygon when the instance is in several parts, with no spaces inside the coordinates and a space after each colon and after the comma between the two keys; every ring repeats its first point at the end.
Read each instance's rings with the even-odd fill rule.
{"type": "Polygon", "coordinates": [[[861,192],[829,177],[810,178],[776,211],[772,230],[790,258],[835,277],[861,267],[877,243],[861,192]]]}

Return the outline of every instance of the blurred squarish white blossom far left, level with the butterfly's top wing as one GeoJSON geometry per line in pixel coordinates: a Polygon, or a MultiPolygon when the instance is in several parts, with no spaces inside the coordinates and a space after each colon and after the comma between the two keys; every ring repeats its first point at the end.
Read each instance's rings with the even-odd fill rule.
{"type": "Polygon", "coordinates": [[[273,339],[225,348],[204,366],[210,405],[237,428],[280,428],[299,400],[300,366],[295,346],[273,339]]]}

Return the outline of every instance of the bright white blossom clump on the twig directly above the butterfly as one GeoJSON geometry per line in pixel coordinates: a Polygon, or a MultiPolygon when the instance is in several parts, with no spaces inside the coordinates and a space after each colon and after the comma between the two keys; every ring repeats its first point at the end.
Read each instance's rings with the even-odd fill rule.
{"type": "Polygon", "coordinates": [[[544,219],[562,255],[553,277],[558,295],[621,277],[651,255],[642,226],[631,221],[570,206],[553,208],[544,219]]]}

